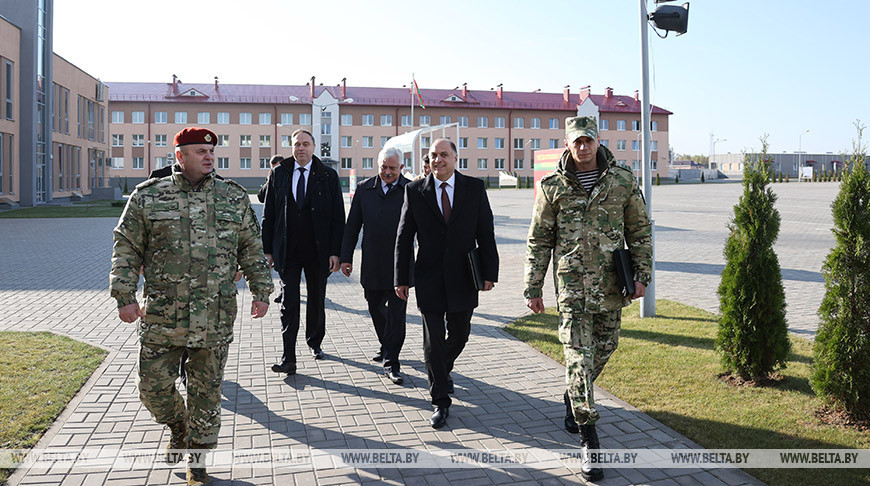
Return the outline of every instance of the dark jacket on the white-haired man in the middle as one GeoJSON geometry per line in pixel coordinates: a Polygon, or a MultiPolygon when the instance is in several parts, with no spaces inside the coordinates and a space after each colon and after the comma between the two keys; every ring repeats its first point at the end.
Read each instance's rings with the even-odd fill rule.
{"type": "MultiPolygon", "coordinates": [[[[360,283],[369,290],[393,288],[393,262],[396,250],[396,229],[402,214],[405,185],[410,181],[399,176],[389,194],[384,194],[381,178],[366,179],[356,188],[350,213],[344,225],[341,263],[353,263],[353,251],[363,230],[360,283]]],[[[412,263],[413,264],[413,263],[412,263]]]]}

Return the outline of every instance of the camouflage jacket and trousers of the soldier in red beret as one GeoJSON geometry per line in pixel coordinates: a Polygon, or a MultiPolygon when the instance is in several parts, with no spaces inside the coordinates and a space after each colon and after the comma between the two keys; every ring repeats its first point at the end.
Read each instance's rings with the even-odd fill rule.
{"type": "Polygon", "coordinates": [[[245,189],[214,172],[194,188],[171,176],[136,186],[114,231],[110,288],[118,307],[136,303],[139,397],[158,423],[186,420],[192,444],[212,448],[220,429],[221,383],[236,317],[233,276],[241,267],[253,300],[268,302],[272,277],[245,189]],[[187,407],[175,387],[188,350],[187,407]]]}

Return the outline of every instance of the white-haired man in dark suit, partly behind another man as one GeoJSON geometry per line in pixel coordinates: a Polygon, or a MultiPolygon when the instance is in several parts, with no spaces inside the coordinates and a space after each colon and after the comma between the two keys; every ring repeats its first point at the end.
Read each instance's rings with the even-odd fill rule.
{"type": "Polygon", "coordinates": [[[402,383],[399,353],[405,343],[408,306],[393,289],[396,228],[405,199],[405,185],[410,182],[402,175],[403,155],[396,148],[387,148],[378,154],[378,175],[357,186],[341,245],[341,271],[349,277],[353,271],[353,251],[359,232],[365,226],[360,283],[381,345],[372,360],[383,361],[387,378],[397,385],[402,383]]]}

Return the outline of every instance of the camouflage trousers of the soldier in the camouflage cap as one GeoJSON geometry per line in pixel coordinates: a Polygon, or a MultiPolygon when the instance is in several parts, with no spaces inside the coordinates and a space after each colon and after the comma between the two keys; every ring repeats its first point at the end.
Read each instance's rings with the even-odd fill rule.
{"type": "Polygon", "coordinates": [[[622,309],[604,314],[563,314],[559,340],[565,349],[568,397],[579,425],[598,420],[592,384],[619,342],[622,309]]]}

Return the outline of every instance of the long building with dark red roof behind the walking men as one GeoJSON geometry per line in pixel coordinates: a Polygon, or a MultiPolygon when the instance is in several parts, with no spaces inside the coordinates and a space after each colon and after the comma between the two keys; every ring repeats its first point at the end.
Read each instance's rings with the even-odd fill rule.
{"type": "MultiPolygon", "coordinates": [[[[185,126],[207,126],[218,135],[217,170],[247,187],[258,187],[269,158],[292,155],[290,135],[302,128],[314,134],[319,156],[347,186],[377,173],[377,154],[387,141],[412,130],[444,126],[423,134],[408,153],[405,170],[419,172],[419,156],[444,136],[459,149],[463,173],[496,181],[499,172],[532,176],[532,152],[564,146],[565,118],[578,107],[600,119],[602,143],[640,174],[640,102],[637,97],[588,91],[572,94],[521,93],[497,89],[424,89],[422,99],[407,88],[307,85],[185,84],[110,82],[112,177],[133,184],[172,163],[172,137],[185,126]],[[413,105],[412,105],[413,103],[413,105]]],[[[652,109],[653,172],[659,148],[667,154],[668,116],[652,109]]],[[[666,159],[667,156],[664,155],[666,159]]]]}

